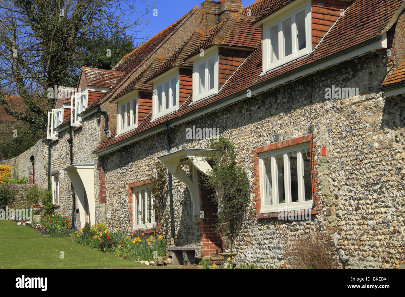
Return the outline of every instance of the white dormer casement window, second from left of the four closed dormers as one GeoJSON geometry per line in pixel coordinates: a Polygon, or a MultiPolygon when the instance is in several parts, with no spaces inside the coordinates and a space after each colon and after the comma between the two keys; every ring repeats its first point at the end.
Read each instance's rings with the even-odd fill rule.
{"type": "Polygon", "coordinates": [[[179,106],[179,74],[153,82],[153,119],[160,118],[179,106]]]}

